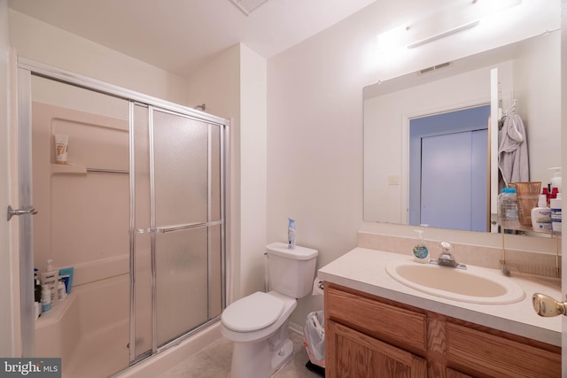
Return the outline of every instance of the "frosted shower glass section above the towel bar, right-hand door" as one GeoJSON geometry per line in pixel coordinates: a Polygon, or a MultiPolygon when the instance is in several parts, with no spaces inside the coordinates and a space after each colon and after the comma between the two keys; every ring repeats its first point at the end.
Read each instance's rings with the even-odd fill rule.
{"type": "Polygon", "coordinates": [[[207,220],[208,125],[153,113],[157,226],[207,220]]]}

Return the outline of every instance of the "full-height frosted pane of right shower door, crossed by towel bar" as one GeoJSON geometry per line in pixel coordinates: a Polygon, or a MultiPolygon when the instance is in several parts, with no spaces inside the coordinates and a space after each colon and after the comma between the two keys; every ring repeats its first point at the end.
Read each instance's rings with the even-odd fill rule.
{"type": "Polygon", "coordinates": [[[208,125],[153,112],[158,345],[207,320],[208,125]]]}

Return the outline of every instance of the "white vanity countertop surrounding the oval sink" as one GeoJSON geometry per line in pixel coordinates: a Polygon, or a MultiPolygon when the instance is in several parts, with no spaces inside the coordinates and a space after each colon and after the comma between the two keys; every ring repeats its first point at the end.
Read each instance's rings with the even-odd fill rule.
{"type": "MultiPolygon", "coordinates": [[[[318,277],[323,281],[377,297],[392,299],[431,312],[561,346],[561,317],[540,317],[532,307],[533,293],[539,292],[559,299],[562,297],[560,289],[520,277],[506,277],[498,270],[490,269],[501,274],[506,280],[517,282],[525,291],[524,299],[509,305],[478,305],[458,302],[411,289],[394,280],[386,273],[385,266],[393,259],[403,258],[413,259],[409,254],[354,248],[319,269],[318,277]]],[[[466,263],[466,261],[460,262],[466,263]]]]}

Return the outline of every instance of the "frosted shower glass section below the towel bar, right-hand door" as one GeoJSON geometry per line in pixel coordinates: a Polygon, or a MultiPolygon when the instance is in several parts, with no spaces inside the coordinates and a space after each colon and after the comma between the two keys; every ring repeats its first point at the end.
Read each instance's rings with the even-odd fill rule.
{"type": "Polygon", "coordinates": [[[157,235],[158,345],[208,320],[207,234],[194,228],[157,235]]]}

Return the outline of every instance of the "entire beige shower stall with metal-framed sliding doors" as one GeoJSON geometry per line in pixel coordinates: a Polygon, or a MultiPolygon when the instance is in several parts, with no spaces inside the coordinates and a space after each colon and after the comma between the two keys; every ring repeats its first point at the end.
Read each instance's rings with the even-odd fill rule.
{"type": "Polygon", "coordinates": [[[225,306],[229,123],[20,58],[22,348],[63,376],[116,374],[217,322],[225,306]],[[68,135],[56,164],[54,135],[68,135]],[[33,274],[74,270],[35,320],[33,274]],[[105,371],[101,371],[105,368],[105,371]]]}

